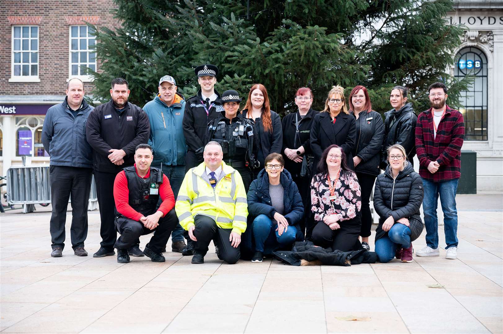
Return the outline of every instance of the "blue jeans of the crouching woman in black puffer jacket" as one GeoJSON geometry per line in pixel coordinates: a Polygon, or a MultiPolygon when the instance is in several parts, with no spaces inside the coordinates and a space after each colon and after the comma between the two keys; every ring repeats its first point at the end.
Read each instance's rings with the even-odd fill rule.
{"type": "Polygon", "coordinates": [[[376,240],[375,252],[379,258],[379,262],[386,263],[395,257],[396,249],[398,247],[410,247],[410,229],[399,222],[388,231],[387,236],[383,236],[376,240]]]}

